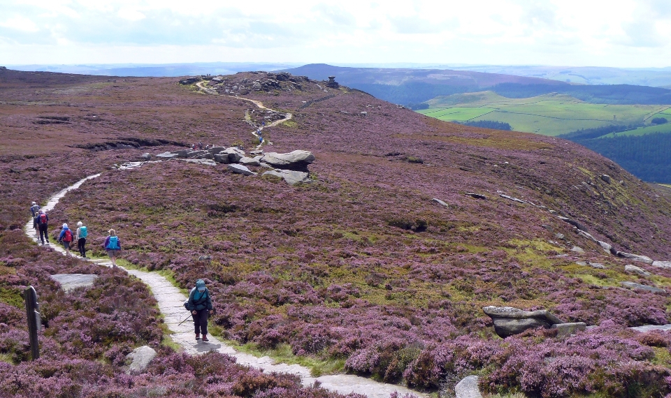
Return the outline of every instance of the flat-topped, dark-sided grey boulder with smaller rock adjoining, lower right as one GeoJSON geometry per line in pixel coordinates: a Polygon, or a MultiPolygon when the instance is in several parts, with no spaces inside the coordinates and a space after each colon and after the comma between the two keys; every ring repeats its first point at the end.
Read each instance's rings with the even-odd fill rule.
{"type": "Polygon", "coordinates": [[[513,307],[483,307],[484,314],[494,323],[494,331],[500,337],[509,337],[534,327],[548,329],[563,320],[550,314],[547,310],[524,311],[513,307]]]}

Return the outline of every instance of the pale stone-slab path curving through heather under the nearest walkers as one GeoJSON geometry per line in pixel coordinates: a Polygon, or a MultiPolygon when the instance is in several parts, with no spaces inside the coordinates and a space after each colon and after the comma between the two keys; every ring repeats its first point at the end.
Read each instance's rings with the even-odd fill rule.
{"type": "MultiPolygon", "coordinates": [[[[59,200],[66,195],[66,193],[78,189],[84,182],[89,179],[99,177],[99,175],[100,174],[90,175],[89,177],[80,180],[76,184],[68,186],[66,189],[63,189],[55,196],[52,196],[47,202],[47,205],[42,207],[42,209],[49,213],[58,204],[59,200]]],[[[36,230],[33,228],[32,221],[26,223],[24,231],[26,235],[34,240],[34,242],[38,242],[38,235],[36,234],[36,230]]],[[[65,254],[65,249],[61,245],[51,244],[50,246],[59,253],[65,254]]],[[[81,258],[80,256],[75,257],[81,258]]],[[[105,267],[112,266],[112,263],[109,260],[94,260],[89,258],[81,259],[92,261],[93,263],[105,267]]],[[[182,320],[185,320],[185,318],[188,318],[190,315],[189,311],[187,311],[183,305],[185,300],[187,300],[187,297],[183,295],[177,287],[173,286],[171,282],[169,282],[164,277],[161,277],[161,275],[157,274],[156,272],[145,272],[138,270],[126,271],[129,274],[138,277],[151,288],[154,297],[159,302],[159,310],[161,311],[161,314],[164,315],[165,323],[171,332],[171,338],[182,348],[184,348],[185,352],[191,355],[198,355],[208,351],[217,351],[219,353],[228,354],[232,357],[235,357],[239,364],[263,369],[263,371],[266,373],[280,372],[296,374],[301,377],[303,385],[305,386],[312,385],[315,383],[315,381],[319,381],[323,388],[340,392],[342,394],[357,392],[370,398],[388,398],[392,392],[396,391],[399,393],[399,395],[412,393],[418,397],[428,397],[428,395],[414,392],[399,385],[378,383],[377,381],[370,380],[370,378],[364,378],[350,374],[333,374],[315,378],[310,375],[310,369],[306,367],[298,364],[277,364],[268,357],[258,358],[254,355],[239,353],[233,347],[226,345],[224,342],[220,341],[214,336],[210,337],[209,343],[203,343],[201,340],[196,341],[194,339],[195,333],[193,323],[190,320],[182,323],[181,326],[179,325],[182,320]]]]}

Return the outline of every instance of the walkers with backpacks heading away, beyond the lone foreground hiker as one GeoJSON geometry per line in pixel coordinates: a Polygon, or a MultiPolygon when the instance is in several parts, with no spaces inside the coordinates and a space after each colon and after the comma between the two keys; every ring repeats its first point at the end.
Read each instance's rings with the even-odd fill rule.
{"type": "MultiPolygon", "coordinates": [[[[43,245],[49,244],[48,214],[43,209],[41,209],[40,205],[38,205],[36,202],[32,202],[30,212],[33,216],[33,228],[36,229],[36,232],[39,235],[38,241],[41,242],[41,244],[43,245]]],[[[64,223],[61,229],[61,233],[59,233],[58,235],[57,241],[58,243],[62,244],[63,247],[65,248],[66,256],[71,255],[70,246],[73,244],[73,242],[77,242],[77,250],[79,251],[80,256],[86,258],[86,239],[88,235],[89,235],[88,228],[84,225],[84,223],[82,223],[82,221],[79,221],[77,223],[77,230],[75,230],[74,233],[68,227],[68,224],[64,223]]],[[[119,237],[117,237],[117,233],[115,230],[113,229],[109,230],[109,235],[105,239],[103,249],[105,249],[105,251],[108,253],[108,256],[110,256],[110,260],[112,260],[113,267],[116,267],[117,257],[119,257],[121,253],[121,242],[119,240],[119,237]]]]}

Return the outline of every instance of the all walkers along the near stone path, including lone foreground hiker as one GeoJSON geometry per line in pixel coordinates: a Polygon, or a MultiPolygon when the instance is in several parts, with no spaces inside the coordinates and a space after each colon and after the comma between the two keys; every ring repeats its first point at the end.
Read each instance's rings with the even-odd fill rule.
{"type": "MultiPolygon", "coordinates": [[[[49,244],[49,216],[40,208],[36,202],[32,202],[30,212],[33,216],[33,228],[39,231],[39,241],[41,244],[49,244]]],[[[121,254],[121,241],[117,237],[117,232],[113,229],[108,231],[108,236],[105,238],[103,249],[107,251],[112,266],[117,267],[117,257],[121,254]]],[[[89,235],[88,228],[79,221],[77,223],[77,230],[75,233],[68,227],[67,223],[63,224],[61,233],[58,235],[58,242],[63,244],[66,256],[70,256],[70,246],[72,242],[77,242],[77,249],[83,258],[86,257],[86,238],[89,235]]],[[[199,279],[196,281],[196,287],[189,293],[189,300],[184,304],[185,308],[189,310],[191,316],[194,318],[194,326],[196,327],[196,340],[210,341],[208,339],[208,318],[212,311],[212,300],[210,298],[210,290],[205,287],[205,281],[199,279]]]]}

